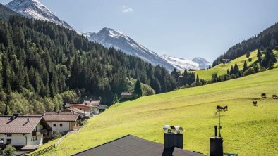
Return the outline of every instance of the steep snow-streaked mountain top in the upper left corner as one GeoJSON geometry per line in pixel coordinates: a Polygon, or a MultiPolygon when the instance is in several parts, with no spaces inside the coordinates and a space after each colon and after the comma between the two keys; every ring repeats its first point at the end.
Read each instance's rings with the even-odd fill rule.
{"type": "Polygon", "coordinates": [[[49,8],[41,4],[38,0],[13,0],[6,4],[6,7],[25,17],[54,22],[56,25],[61,25],[73,30],[73,27],[68,25],[64,20],[60,20],[49,8]]]}

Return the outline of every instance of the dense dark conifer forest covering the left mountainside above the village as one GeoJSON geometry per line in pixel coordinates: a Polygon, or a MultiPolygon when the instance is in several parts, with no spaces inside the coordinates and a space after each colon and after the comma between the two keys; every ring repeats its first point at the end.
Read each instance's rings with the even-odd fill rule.
{"type": "Polygon", "coordinates": [[[176,89],[164,67],[50,22],[12,16],[0,20],[0,36],[1,113],[59,110],[83,98],[110,105],[115,93],[128,89],[128,78],[140,79],[156,93],[176,89]]]}

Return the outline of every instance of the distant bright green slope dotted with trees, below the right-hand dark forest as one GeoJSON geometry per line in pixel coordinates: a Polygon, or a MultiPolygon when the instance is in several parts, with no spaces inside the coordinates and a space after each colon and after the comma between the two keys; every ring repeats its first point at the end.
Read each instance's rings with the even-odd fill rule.
{"type": "MultiPolygon", "coordinates": [[[[196,74],[199,75],[200,78],[202,79],[206,79],[206,80],[209,80],[212,78],[212,74],[216,73],[218,76],[219,75],[222,75],[222,74],[226,74],[226,71],[229,69],[231,69],[231,65],[235,65],[237,63],[238,67],[239,67],[239,70],[243,70],[243,64],[244,64],[244,61],[246,61],[247,65],[251,65],[252,63],[254,63],[255,61],[258,60],[257,58],[257,53],[258,53],[258,50],[255,50],[255,51],[252,51],[250,53],[250,58],[252,58],[252,61],[249,62],[248,61],[248,58],[246,58],[246,55],[244,56],[241,56],[239,58],[236,58],[234,60],[231,60],[229,63],[221,63],[215,67],[212,67],[211,69],[209,70],[198,70],[198,71],[195,71],[196,74]]],[[[274,51],[274,54],[278,60],[278,51],[274,51]]],[[[278,63],[274,66],[277,66],[278,63]]]]}

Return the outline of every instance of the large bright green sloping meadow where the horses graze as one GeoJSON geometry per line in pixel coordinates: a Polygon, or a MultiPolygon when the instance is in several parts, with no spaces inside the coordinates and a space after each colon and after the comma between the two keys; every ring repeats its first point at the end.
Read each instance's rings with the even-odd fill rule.
{"type": "Polygon", "coordinates": [[[44,155],[73,155],[127,134],[163,143],[165,124],[183,126],[184,149],[208,155],[217,105],[229,106],[222,112],[224,152],[278,155],[278,100],[272,93],[278,94],[278,69],[119,103],[44,155]],[[260,98],[261,93],[267,98],[260,98]]]}

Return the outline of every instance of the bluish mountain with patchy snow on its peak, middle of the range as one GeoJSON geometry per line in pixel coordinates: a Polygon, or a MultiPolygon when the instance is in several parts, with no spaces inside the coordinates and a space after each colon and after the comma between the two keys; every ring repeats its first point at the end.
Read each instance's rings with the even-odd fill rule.
{"type": "Polygon", "coordinates": [[[142,46],[141,44],[138,44],[136,41],[131,39],[131,37],[128,37],[126,34],[123,34],[123,32],[118,30],[104,27],[97,33],[87,32],[83,35],[90,41],[95,41],[107,48],[114,47],[124,53],[142,58],[143,60],[152,63],[152,65],[159,64],[169,71],[174,70],[174,66],[161,58],[157,53],[145,48],[145,46],[142,46]]]}

